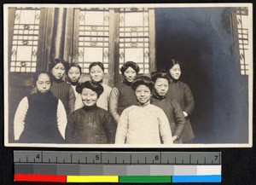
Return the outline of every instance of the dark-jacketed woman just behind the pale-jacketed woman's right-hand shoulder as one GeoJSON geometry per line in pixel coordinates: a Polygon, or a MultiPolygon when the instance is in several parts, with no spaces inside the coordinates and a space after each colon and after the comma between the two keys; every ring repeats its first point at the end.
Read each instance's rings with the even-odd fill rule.
{"type": "Polygon", "coordinates": [[[154,94],[151,97],[151,103],[160,107],[166,113],[172,130],[173,142],[182,143],[180,137],[183,135],[186,120],[178,102],[171,100],[170,97],[166,97],[170,78],[166,72],[152,72],[151,78],[154,82],[154,94]]]}

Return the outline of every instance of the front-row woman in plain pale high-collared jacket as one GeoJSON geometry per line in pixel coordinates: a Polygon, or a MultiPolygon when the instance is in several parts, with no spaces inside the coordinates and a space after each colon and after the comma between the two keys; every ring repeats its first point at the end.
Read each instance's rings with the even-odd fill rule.
{"type": "Polygon", "coordinates": [[[131,84],[137,105],[125,108],[119,118],[116,144],[172,144],[172,132],[166,113],[149,103],[154,83],[140,77],[131,84]]]}

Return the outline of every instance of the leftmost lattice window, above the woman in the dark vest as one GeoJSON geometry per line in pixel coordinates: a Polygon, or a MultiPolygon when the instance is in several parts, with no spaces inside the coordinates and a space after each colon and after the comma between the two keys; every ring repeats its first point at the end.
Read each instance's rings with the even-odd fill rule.
{"type": "Polygon", "coordinates": [[[16,9],[10,72],[36,72],[39,20],[40,9],[16,9]]]}

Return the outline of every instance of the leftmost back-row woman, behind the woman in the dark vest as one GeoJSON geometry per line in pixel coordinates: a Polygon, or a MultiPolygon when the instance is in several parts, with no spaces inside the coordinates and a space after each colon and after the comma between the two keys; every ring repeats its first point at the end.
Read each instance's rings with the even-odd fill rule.
{"type": "Polygon", "coordinates": [[[50,90],[55,97],[59,98],[67,112],[67,115],[73,113],[75,94],[71,84],[67,84],[62,80],[64,73],[67,72],[69,64],[67,61],[55,59],[49,63],[49,72],[53,77],[53,82],[50,90]]]}

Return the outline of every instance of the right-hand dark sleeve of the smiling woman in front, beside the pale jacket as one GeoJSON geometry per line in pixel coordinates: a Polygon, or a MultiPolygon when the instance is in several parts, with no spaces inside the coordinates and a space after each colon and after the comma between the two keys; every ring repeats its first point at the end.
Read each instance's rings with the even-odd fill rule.
{"type": "Polygon", "coordinates": [[[114,123],[113,117],[108,112],[105,112],[104,114],[103,127],[107,136],[108,143],[113,144],[116,132],[116,124],[114,123]]]}

